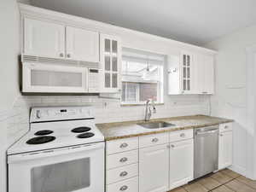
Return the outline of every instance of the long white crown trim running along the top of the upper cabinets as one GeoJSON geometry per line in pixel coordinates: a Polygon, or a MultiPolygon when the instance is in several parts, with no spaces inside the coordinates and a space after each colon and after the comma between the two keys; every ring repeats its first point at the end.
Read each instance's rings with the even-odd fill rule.
{"type": "MultiPolygon", "coordinates": [[[[182,47],[183,49],[193,49],[195,51],[201,51],[201,52],[204,52],[204,53],[210,54],[210,55],[217,54],[217,51],[212,50],[212,49],[206,49],[206,48],[202,48],[202,47],[192,45],[192,44],[185,44],[183,42],[178,42],[178,41],[172,40],[170,38],[162,38],[162,37],[148,34],[145,32],[137,32],[135,30],[131,30],[131,29],[127,29],[127,28],[123,28],[123,27],[119,27],[119,26],[109,25],[109,24],[99,22],[96,20],[89,20],[89,19],[78,17],[78,16],[74,16],[74,15],[67,15],[67,14],[55,12],[55,11],[48,10],[48,9],[41,9],[41,8],[27,5],[24,3],[19,3],[19,6],[20,6],[21,15],[30,17],[30,18],[32,17],[34,19],[52,20],[52,21],[55,21],[56,23],[62,23],[63,25],[80,26],[84,29],[91,30],[91,31],[97,31],[97,32],[101,32],[102,28],[106,29],[106,31],[116,30],[116,31],[128,32],[128,33],[132,33],[135,35],[148,37],[148,38],[151,38],[152,40],[164,41],[168,44],[172,44],[173,47],[179,47],[179,48],[182,47]]],[[[106,33],[106,32],[103,32],[103,33],[106,33]]],[[[127,47],[127,48],[129,48],[129,47],[127,47]]]]}

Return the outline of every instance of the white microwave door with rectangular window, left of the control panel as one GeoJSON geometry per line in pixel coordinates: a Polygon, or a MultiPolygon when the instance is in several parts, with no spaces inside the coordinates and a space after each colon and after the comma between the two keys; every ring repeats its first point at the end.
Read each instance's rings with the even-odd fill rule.
{"type": "Polygon", "coordinates": [[[88,68],[22,63],[23,92],[88,92],[88,68]]]}

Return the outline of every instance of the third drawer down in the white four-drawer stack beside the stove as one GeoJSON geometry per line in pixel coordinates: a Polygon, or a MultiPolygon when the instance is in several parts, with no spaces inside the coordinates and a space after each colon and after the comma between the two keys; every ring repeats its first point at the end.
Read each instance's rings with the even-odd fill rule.
{"type": "Polygon", "coordinates": [[[116,183],[127,178],[135,177],[137,175],[137,163],[131,164],[130,166],[121,166],[119,168],[111,169],[107,172],[107,184],[116,183]]]}

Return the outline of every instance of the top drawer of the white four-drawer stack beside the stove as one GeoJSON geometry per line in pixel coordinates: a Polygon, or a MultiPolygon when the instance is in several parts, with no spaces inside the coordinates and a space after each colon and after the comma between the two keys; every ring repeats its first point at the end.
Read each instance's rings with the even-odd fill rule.
{"type": "Polygon", "coordinates": [[[138,137],[118,139],[107,142],[107,154],[117,154],[138,148],[138,137]]]}

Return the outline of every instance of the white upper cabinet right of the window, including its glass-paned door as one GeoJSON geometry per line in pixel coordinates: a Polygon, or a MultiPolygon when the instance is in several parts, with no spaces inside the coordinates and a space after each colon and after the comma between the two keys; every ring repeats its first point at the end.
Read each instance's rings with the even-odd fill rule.
{"type": "Polygon", "coordinates": [[[213,94],[214,58],[213,55],[201,55],[182,52],[168,57],[168,93],[213,94]]]}

